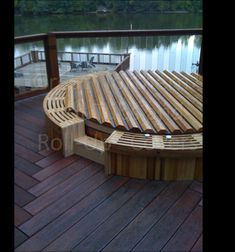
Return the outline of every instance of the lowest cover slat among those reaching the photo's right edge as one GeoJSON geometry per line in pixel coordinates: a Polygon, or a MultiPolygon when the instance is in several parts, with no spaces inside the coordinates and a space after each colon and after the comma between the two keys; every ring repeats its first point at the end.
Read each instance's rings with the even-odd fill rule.
{"type": "Polygon", "coordinates": [[[172,94],[170,94],[162,85],[160,85],[159,82],[157,82],[156,79],[154,79],[153,76],[148,72],[141,71],[141,73],[150,81],[153,87],[155,87],[155,89],[158,90],[165,97],[165,99],[167,99],[175,107],[175,109],[178,110],[178,112],[193,126],[196,131],[202,131],[202,124],[187,109],[185,109],[184,106],[177,101],[172,94]]]}

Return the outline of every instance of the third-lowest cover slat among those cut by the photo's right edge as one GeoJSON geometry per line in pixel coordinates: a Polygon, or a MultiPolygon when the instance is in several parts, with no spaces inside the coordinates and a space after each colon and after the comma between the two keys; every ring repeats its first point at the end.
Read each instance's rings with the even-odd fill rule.
{"type": "Polygon", "coordinates": [[[165,81],[167,81],[175,90],[182,94],[189,102],[191,102],[200,112],[202,111],[202,102],[194,97],[187,89],[179,85],[174,79],[172,79],[165,72],[159,74],[165,81]]]}

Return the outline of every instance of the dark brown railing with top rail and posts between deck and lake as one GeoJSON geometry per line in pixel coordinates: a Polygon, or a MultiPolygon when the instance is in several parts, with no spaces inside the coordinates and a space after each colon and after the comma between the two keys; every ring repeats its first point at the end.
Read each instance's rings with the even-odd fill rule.
{"type": "MultiPolygon", "coordinates": [[[[45,60],[47,77],[50,90],[60,82],[58,59],[57,59],[57,39],[60,38],[94,38],[94,37],[147,37],[147,36],[179,36],[179,35],[202,35],[202,29],[161,29],[161,30],[105,30],[105,31],[68,31],[51,32],[15,38],[15,44],[43,41],[45,48],[45,60]]],[[[201,45],[202,52],[202,45],[201,45]]],[[[199,73],[202,74],[202,53],[199,60],[199,73]]],[[[34,95],[31,92],[31,96],[34,95]]],[[[29,96],[29,95],[28,95],[29,96]]],[[[19,97],[19,96],[18,96],[19,97]]]]}

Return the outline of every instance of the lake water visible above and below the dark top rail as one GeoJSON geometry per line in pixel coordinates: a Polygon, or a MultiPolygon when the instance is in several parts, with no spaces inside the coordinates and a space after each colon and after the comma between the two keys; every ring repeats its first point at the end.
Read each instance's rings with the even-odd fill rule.
{"type": "MultiPolygon", "coordinates": [[[[202,14],[60,15],[15,17],[15,36],[50,31],[183,29],[201,28],[202,14]]],[[[167,69],[195,72],[201,36],[151,36],[91,39],[58,39],[58,51],[131,53],[130,69],[167,69]]],[[[43,50],[41,42],[15,46],[15,57],[32,49],[43,50]]]]}

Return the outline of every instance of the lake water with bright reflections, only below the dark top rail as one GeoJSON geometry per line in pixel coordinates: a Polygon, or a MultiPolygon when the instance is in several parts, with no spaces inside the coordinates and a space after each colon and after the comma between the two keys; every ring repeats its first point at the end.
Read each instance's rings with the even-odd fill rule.
{"type": "MultiPolygon", "coordinates": [[[[159,69],[196,72],[201,36],[150,36],[121,38],[58,39],[61,52],[131,53],[130,70],[159,69]]],[[[44,50],[42,42],[15,46],[15,56],[44,50]]]]}

